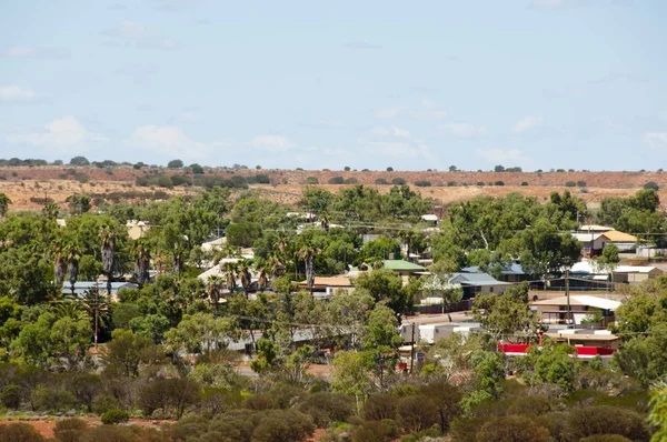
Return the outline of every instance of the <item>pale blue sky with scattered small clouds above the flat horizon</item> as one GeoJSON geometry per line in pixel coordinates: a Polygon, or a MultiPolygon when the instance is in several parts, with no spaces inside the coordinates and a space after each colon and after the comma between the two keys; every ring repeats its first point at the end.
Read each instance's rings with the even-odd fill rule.
{"type": "Polygon", "coordinates": [[[0,158],[667,168],[666,19],[663,0],[4,1],[0,158]]]}

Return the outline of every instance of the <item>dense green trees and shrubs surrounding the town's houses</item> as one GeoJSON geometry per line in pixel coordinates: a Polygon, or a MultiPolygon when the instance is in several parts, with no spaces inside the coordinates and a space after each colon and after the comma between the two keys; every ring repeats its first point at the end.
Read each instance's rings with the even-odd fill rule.
{"type": "MultiPolygon", "coordinates": [[[[664,425],[665,393],[650,399],[648,389],[667,374],[665,279],[631,289],[617,312],[624,345],[608,366],[548,341],[524,358],[496,351],[500,341],[538,340],[519,284],[475,299],[487,333],[454,333],[420,348],[426,361],[412,373],[395,369],[399,315],[425,297],[459,302],[462,292],[447,281],[462,267],[500,275],[520,262],[546,280],[579,258],[570,230],[590,214],[567,191],[544,203],[510,194],[452,204],[437,228],[421,218],[435,202],[407,185],[313,187],[298,210],[220,187],[98,211],[81,195],[41,213],[1,201],[0,402],[107,423],[60,421],[58,440],[295,441],[321,428],[323,441],[647,441],[664,425]],[[146,225],[137,240],[126,227],[132,220],[146,225]],[[219,237],[221,245],[201,247],[219,237]],[[431,275],[382,269],[415,253],[432,254],[431,275]],[[354,289],[328,302],[312,295],[316,275],[350,267],[361,270],[354,289]],[[100,275],[97,290],[77,290],[100,275]],[[126,280],[136,288],[106,294],[126,280]],[[313,375],[315,363],[328,363],[331,375],[313,375]],[[139,415],[178,422],[159,431],[115,425],[139,415]]],[[[597,217],[651,240],[665,225],[658,203],[641,190],[605,200],[597,217]]],[[[609,248],[600,263],[617,261],[609,248]]],[[[38,440],[21,435],[31,431],[0,426],[0,439],[38,440]]]]}

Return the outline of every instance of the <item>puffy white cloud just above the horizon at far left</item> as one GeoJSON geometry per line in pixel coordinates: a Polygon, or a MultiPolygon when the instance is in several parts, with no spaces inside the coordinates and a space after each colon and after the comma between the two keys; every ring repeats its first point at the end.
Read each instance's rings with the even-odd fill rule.
{"type": "Polygon", "coordinates": [[[51,121],[40,132],[9,134],[7,141],[59,152],[79,152],[103,144],[108,139],[103,134],[90,132],[79,120],[69,115],[51,121]]]}

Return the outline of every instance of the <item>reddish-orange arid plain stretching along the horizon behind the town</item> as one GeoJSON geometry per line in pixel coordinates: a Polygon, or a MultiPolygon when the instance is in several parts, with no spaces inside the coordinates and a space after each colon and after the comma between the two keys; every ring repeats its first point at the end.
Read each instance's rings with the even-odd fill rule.
{"type": "MultiPolygon", "coordinates": [[[[71,172],[71,171],[70,171],[71,172]]],[[[116,168],[112,174],[104,169],[93,167],[39,167],[39,168],[0,168],[0,192],[6,193],[11,200],[10,210],[39,210],[43,199],[52,199],[64,207],[66,199],[73,193],[87,193],[104,199],[115,192],[142,192],[165,191],[167,195],[192,194],[200,191],[198,188],[178,187],[173,189],[136,187],[138,177],[150,174],[147,169],[116,168]],[[84,173],[90,181],[80,183],[73,180],[68,170],[84,173]],[[67,177],[67,178],[66,178],[67,177]],[[66,178],[66,179],[63,179],[66,178]],[[40,201],[41,200],[41,201],[40,201]]],[[[185,173],[183,171],[165,170],[165,174],[185,173]]],[[[230,178],[233,174],[255,175],[266,174],[271,184],[253,184],[251,188],[259,190],[267,198],[296,205],[303,189],[306,180],[315,178],[319,187],[338,192],[347,185],[326,184],[332,177],[344,179],[355,178],[359,183],[377,188],[380,192],[388,192],[390,185],[375,184],[376,179],[390,182],[395,178],[405,179],[410,185],[420,191],[424,197],[432,198],[442,205],[465,201],[478,195],[505,197],[511,192],[536,197],[540,201],[548,199],[550,192],[569,189],[578,197],[595,208],[607,197],[629,197],[637,192],[649,181],[656,182],[660,188],[660,198],[667,201],[667,173],[663,172],[341,172],[341,171],[301,171],[301,170],[238,170],[235,172],[222,169],[210,169],[209,174],[230,178]],[[431,187],[416,187],[417,181],[429,181],[431,187]],[[502,181],[505,185],[489,185],[502,181]],[[585,188],[566,188],[566,182],[580,182],[585,188]],[[478,185],[482,184],[484,185],[478,185]],[[450,185],[451,184],[451,185],[450,185]],[[521,185],[524,184],[524,185],[521,185]],[[527,185],[526,185],[527,184],[527,185]]]]}

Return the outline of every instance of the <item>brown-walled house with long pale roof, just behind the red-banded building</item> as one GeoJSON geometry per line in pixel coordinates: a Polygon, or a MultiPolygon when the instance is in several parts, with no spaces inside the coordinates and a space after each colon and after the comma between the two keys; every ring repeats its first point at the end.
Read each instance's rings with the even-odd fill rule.
{"type": "MultiPolygon", "coordinates": [[[[567,318],[568,297],[558,297],[532,302],[532,309],[540,314],[544,324],[564,324],[567,318]]],[[[574,324],[581,324],[600,315],[600,325],[614,322],[614,312],[620,302],[587,294],[569,297],[570,314],[574,324]]]]}

